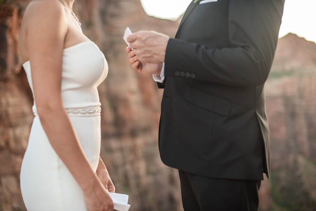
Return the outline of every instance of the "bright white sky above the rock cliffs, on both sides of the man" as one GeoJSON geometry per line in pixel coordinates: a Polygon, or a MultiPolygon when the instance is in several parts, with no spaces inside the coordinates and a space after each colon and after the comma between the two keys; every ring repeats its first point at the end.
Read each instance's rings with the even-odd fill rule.
{"type": "MultiPolygon", "coordinates": [[[[148,15],[176,20],[184,13],[191,0],[141,0],[141,2],[148,15]]],[[[316,42],[316,0],[285,0],[279,37],[289,32],[316,42]]]]}

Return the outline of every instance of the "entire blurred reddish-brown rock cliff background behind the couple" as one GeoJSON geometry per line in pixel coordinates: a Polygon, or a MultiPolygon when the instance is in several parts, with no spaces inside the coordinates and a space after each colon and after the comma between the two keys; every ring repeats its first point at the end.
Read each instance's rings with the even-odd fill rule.
{"type": "MultiPolygon", "coordinates": [[[[19,171],[33,120],[32,94],[21,68],[19,26],[27,0],[0,1],[0,211],[26,210],[19,171]]],[[[173,36],[176,22],[147,16],[139,0],[76,0],[84,33],[105,53],[109,75],[99,87],[101,157],[131,211],[181,211],[177,171],[158,153],[161,90],[131,70],[122,36],[156,30],[173,36]]],[[[272,177],[260,189],[261,211],[316,210],[316,45],[289,34],[279,40],[266,83],[272,177]]]]}

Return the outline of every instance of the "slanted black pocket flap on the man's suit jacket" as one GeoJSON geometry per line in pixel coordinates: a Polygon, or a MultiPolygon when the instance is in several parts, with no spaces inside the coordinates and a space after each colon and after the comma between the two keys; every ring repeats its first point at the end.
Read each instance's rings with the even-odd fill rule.
{"type": "Polygon", "coordinates": [[[199,107],[222,116],[228,116],[230,113],[231,102],[228,99],[217,97],[193,87],[187,87],[185,98],[199,107]]]}

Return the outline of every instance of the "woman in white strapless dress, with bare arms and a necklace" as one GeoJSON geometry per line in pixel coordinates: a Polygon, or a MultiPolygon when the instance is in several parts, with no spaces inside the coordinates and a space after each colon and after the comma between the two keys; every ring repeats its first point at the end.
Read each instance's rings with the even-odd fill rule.
{"type": "Polygon", "coordinates": [[[100,159],[97,86],[108,66],[72,12],[74,0],[34,0],[25,11],[20,51],[34,97],[21,167],[29,211],[112,211],[114,185],[100,159]]]}

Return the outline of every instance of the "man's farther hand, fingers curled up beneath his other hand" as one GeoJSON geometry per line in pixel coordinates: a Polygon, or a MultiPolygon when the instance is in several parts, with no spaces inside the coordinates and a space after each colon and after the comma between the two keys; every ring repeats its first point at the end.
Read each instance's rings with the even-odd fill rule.
{"type": "MultiPolygon", "coordinates": [[[[131,50],[130,47],[127,47],[125,51],[128,53],[129,62],[132,65],[132,68],[140,73],[147,74],[160,74],[162,70],[161,64],[151,64],[151,63],[143,63],[138,60],[137,55],[135,55],[134,51],[131,50]]],[[[137,53],[137,52],[136,52],[137,53]]]]}

